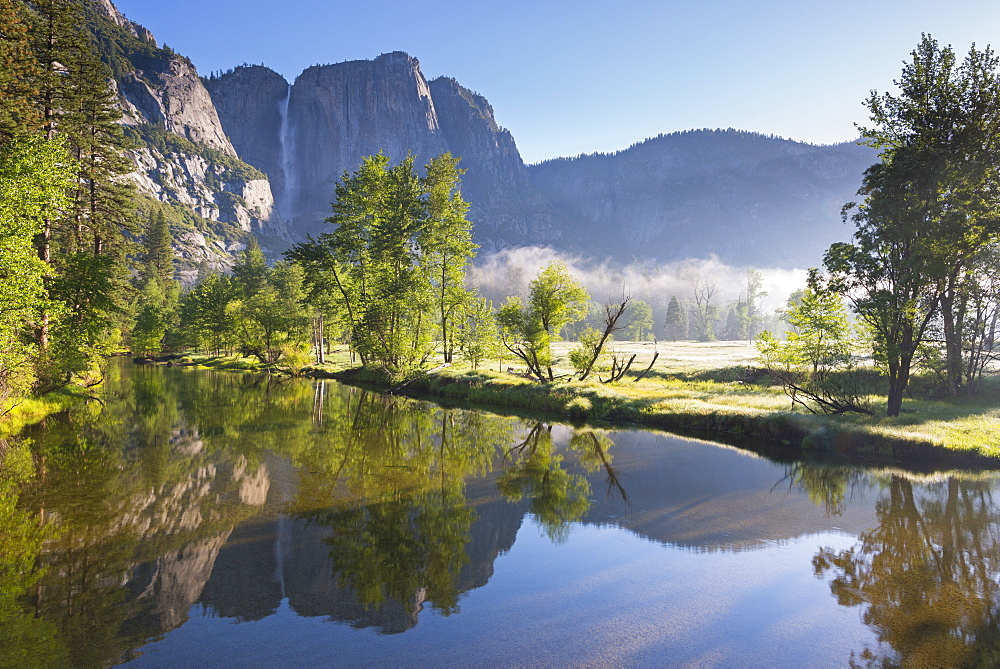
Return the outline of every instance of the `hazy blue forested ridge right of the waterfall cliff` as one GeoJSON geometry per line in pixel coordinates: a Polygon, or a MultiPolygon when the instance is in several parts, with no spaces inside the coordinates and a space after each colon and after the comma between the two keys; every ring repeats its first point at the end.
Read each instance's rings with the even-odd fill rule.
{"type": "Polygon", "coordinates": [[[735,130],[656,137],[616,154],[529,168],[534,186],[573,221],[574,246],[616,259],[803,267],[849,232],[854,199],[874,152],[814,146],[735,130]]]}

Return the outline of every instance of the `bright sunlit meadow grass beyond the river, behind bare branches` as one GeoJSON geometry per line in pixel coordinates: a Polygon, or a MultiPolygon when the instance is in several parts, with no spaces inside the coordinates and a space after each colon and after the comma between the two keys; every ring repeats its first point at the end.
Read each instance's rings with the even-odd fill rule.
{"type": "MultiPolygon", "coordinates": [[[[914,398],[904,403],[904,413],[885,417],[885,397],[873,390],[869,400],[876,416],[813,415],[793,405],[780,386],[756,369],[756,349],[750,342],[617,342],[620,354],[636,355],[632,372],[614,384],[603,384],[598,370],[586,382],[571,380],[568,352],[573,342],[553,345],[555,383],[540,384],[524,378],[523,365],[510,356],[487,360],[478,369],[464,361],[418,377],[407,393],[449,398],[493,407],[552,412],[574,420],[598,419],[631,422],[668,429],[706,433],[756,435],[809,448],[892,455],[894,443],[914,448],[948,449],[1000,457],[1000,393],[989,388],[987,399],[926,399],[918,378],[914,398]],[[654,353],[659,357],[650,373],[636,381],[654,353]],[[508,373],[513,370],[514,373],[508,373]],[[833,444],[833,446],[831,446],[833,444]],[[846,446],[845,446],[846,444],[846,446]]],[[[222,369],[264,371],[252,359],[216,359],[191,356],[191,362],[222,369]]],[[[376,376],[359,374],[358,361],[346,348],[327,357],[324,365],[309,368],[312,374],[329,374],[349,380],[377,383],[376,376]]],[[[428,367],[441,364],[440,357],[428,367]]],[[[280,368],[280,364],[278,365],[280,368]]],[[[881,381],[874,372],[871,383],[881,381]]],[[[905,450],[906,453],[910,451],[905,450]]]]}

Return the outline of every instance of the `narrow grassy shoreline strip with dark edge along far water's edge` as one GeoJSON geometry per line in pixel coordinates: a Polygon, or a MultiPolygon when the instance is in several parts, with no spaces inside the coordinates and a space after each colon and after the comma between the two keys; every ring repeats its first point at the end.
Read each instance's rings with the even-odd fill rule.
{"type": "MultiPolygon", "coordinates": [[[[287,370],[278,367],[212,356],[172,355],[145,362],[288,374],[287,370]]],[[[761,453],[780,452],[782,457],[801,454],[860,459],[921,470],[1000,469],[1000,449],[993,454],[977,447],[950,447],[918,435],[884,434],[879,430],[889,429],[886,425],[852,422],[860,419],[844,416],[746,406],[692,406],[691,403],[671,401],[666,395],[657,396],[655,390],[634,397],[621,392],[621,386],[573,381],[540,384],[510,374],[454,368],[423,372],[395,385],[388,383],[378,371],[359,366],[307,366],[300,370],[300,375],[487,411],[528,411],[575,423],[598,421],[620,427],[660,429],[707,440],[757,442],[741,443],[740,447],[761,453]]],[[[905,430],[903,432],[905,434],[905,430]]]]}

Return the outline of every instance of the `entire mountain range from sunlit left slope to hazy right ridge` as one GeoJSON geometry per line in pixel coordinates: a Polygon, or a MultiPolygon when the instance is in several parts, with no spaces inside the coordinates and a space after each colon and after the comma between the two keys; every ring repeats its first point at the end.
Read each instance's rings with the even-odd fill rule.
{"type": "Polygon", "coordinates": [[[461,158],[483,251],[548,245],[595,259],[808,266],[843,240],[870,149],[741,131],[688,131],[614,154],[525,166],[481,95],[428,81],[402,52],[306,69],[260,65],[199,78],[183,56],[92,0],[92,29],[141,144],[140,191],[173,214],[182,267],[226,267],[248,234],[279,252],[325,232],[334,185],[382,151],[461,158]]]}

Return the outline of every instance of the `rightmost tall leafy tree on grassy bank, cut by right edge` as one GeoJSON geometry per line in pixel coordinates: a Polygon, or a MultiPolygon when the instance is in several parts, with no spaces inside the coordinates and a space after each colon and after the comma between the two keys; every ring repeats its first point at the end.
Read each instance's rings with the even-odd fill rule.
{"type": "Polygon", "coordinates": [[[900,95],[873,93],[867,102],[873,126],[862,134],[883,162],[870,182],[898,189],[921,226],[916,260],[940,309],[957,395],[970,277],[980,250],[1000,238],[1000,59],[973,46],[958,64],[950,46],[924,35],[898,83],[900,95]]]}

